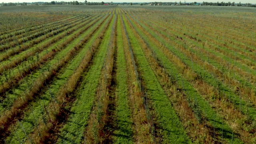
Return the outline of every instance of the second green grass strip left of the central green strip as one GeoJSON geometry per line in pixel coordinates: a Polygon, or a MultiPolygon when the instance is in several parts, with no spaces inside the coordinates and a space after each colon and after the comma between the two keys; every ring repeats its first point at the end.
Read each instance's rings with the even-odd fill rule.
{"type": "MultiPolygon", "coordinates": [[[[87,33],[90,32],[93,28],[94,26],[88,29],[87,33]]],[[[68,78],[74,73],[76,68],[79,66],[82,58],[86,54],[87,50],[90,48],[94,40],[97,38],[98,34],[101,32],[102,28],[103,27],[97,30],[97,32],[92,36],[92,38],[90,38],[90,40],[86,43],[84,48],[82,48],[81,52],[78,55],[76,55],[71,62],[68,63],[67,67],[64,68],[64,70],[60,72],[60,75],[58,75],[54,79],[52,84],[49,85],[52,95],[55,96],[57,92],[59,92],[60,88],[68,81],[68,78]]],[[[84,35],[86,35],[87,33],[85,33],[84,35]]],[[[37,124],[38,120],[43,119],[42,112],[44,112],[44,110],[42,110],[41,106],[44,108],[44,105],[48,106],[49,102],[51,101],[52,101],[52,98],[50,96],[50,91],[46,90],[44,94],[40,96],[40,99],[38,101],[30,104],[30,106],[28,106],[28,108],[25,110],[26,112],[24,114],[24,118],[20,121],[20,123],[22,124],[27,134],[30,134],[31,132],[33,132],[34,128],[36,128],[35,125],[37,124]],[[34,116],[33,116],[32,110],[33,110],[34,116]]],[[[20,138],[20,140],[22,140],[22,142],[25,142],[25,140],[27,140],[26,134],[24,133],[24,131],[22,130],[22,127],[18,124],[18,122],[15,124],[14,129],[16,130],[16,133],[20,138]]],[[[19,144],[17,136],[14,131],[12,131],[10,136],[6,138],[6,142],[10,144],[19,144]]]]}

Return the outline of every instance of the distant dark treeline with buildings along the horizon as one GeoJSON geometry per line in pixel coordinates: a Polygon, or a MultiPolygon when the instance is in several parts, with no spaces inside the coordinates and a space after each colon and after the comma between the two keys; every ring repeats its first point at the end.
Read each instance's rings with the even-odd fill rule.
{"type": "Polygon", "coordinates": [[[27,6],[27,5],[114,5],[114,4],[121,4],[121,5],[151,5],[151,6],[247,6],[247,7],[256,7],[256,5],[253,5],[251,3],[241,4],[235,3],[235,2],[191,2],[186,3],[186,0],[184,2],[144,2],[144,3],[131,3],[131,2],[122,2],[122,3],[114,3],[114,2],[88,2],[87,0],[84,2],[78,2],[78,1],[70,1],[70,2],[64,2],[64,1],[52,1],[52,2],[32,2],[32,3],[4,3],[2,2],[2,6],[27,6]]]}

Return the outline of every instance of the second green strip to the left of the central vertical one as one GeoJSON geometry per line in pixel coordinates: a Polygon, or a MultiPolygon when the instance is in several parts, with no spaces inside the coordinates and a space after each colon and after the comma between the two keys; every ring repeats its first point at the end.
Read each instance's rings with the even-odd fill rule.
{"type": "MultiPolygon", "coordinates": [[[[98,24],[101,21],[98,22],[98,24]]],[[[95,26],[90,27],[84,34],[82,34],[81,36],[86,36],[88,35],[88,33],[90,31],[92,31],[93,28],[95,28],[95,26]]],[[[82,61],[83,56],[86,54],[89,46],[94,42],[94,39],[97,37],[97,34],[100,31],[98,30],[98,32],[96,34],[94,34],[94,36],[92,36],[90,38],[90,40],[88,40],[88,43],[86,44],[86,46],[84,46],[84,48],[81,50],[81,52],[79,52],[79,54],[77,54],[76,57],[74,57],[73,60],[71,60],[68,65],[60,71],[60,74],[56,77],[55,80],[53,80],[52,84],[49,85],[49,88],[45,90],[45,93],[42,94],[40,96],[40,100],[36,101],[35,103],[32,103],[31,106],[28,106],[28,108],[31,108],[30,110],[25,112],[25,116],[23,118],[23,121],[21,121],[20,123],[23,126],[23,129],[26,131],[27,134],[30,134],[30,132],[33,132],[35,123],[37,123],[38,120],[43,120],[46,119],[48,116],[47,114],[44,114],[44,110],[42,110],[42,107],[47,107],[49,102],[53,101],[54,99],[52,99],[52,96],[56,96],[56,94],[58,93],[59,89],[63,86],[63,84],[65,84],[68,80],[68,78],[70,78],[70,76],[74,73],[74,71],[78,68],[80,62],[82,61]],[[33,113],[32,113],[33,110],[33,113]],[[42,114],[43,113],[43,114],[42,114]],[[36,122],[34,122],[36,120],[36,122]],[[29,123],[29,121],[34,122],[34,123],[29,123]]],[[[76,44],[77,42],[74,41],[73,43],[71,43],[71,45],[76,44]]],[[[14,128],[16,130],[16,133],[18,135],[18,137],[20,139],[26,139],[26,135],[24,134],[22,127],[20,125],[18,125],[18,128],[14,128]]],[[[37,131],[37,129],[36,129],[37,131]]],[[[13,132],[10,135],[10,138],[12,138],[12,141],[10,141],[10,143],[18,143],[18,141],[14,142],[16,137],[15,132],[13,132]]],[[[8,139],[6,140],[8,142],[8,139]]]]}

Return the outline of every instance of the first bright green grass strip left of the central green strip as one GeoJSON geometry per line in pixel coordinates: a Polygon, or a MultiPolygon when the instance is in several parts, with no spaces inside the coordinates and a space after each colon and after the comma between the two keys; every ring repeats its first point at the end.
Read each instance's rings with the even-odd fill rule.
{"type": "Polygon", "coordinates": [[[103,37],[102,43],[99,47],[98,54],[95,55],[93,66],[83,78],[81,86],[78,88],[77,100],[74,102],[70,117],[67,123],[60,130],[59,144],[67,143],[81,143],[84,137],[85,126],[88,124],[88,119],[91,113],[92,104],[96,94],[96,88],[100,80],[101,68],[106,57],[108,38],[110,37],[111,25],[114,19],[110,22],[110,26],[103,37]],[[63,142],[64,141],[64,142],[63,142]]]}

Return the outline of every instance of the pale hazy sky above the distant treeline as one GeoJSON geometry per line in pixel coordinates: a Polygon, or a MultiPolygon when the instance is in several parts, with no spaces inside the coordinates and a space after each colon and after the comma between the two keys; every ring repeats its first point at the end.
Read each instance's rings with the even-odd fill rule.
{"type": "MultiPolygon", "coordinates": [[[[2,2],[51,2],[51,1],[64,1],[70,2],[74,0],[0,0],[2,2]]],[[[76,1],[76,0],[75,0],[76,1]]],[[[85,0],[77,0],[78,2],[84,2],[85,0]]],[[[184,0],[87,0],[88,2],[184,2],[184,0]]],[[[241,2],[241,3],[252,3],[255,4],[256,0],[186,0],[186,2],[241,2]]]]}

